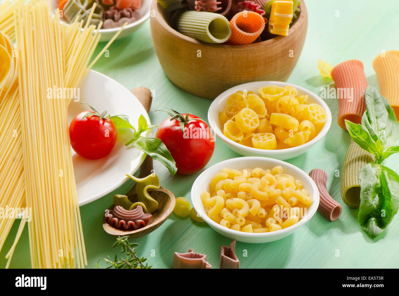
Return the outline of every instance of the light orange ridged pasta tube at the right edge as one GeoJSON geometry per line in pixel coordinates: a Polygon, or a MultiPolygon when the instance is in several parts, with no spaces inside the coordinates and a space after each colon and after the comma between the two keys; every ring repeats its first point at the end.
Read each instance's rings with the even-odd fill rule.
{"type": "Polygon", "coordinates": [[[399,118],[399,51],[389,50],[377,55],[373,68],[381,95],[389,101],[396,118],[399,118]]]}

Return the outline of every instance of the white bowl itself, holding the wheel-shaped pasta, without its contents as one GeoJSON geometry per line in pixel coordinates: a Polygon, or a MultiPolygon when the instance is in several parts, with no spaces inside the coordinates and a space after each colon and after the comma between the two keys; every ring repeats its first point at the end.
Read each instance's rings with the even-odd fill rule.
{"type": "Polygon", "coordinates": [[[311,91],[308,91],[307,89],[304,89],[303,87],[281,81],[256,81],[237,85],[235,87],[232,87],[231,89],[227,89],[227,91],[224,91],[223,93],[218,95],[216,99],[212,102],[211,106],[209,106],[208,122],[214,134],[221,138],[231,150],[237,152],[238,154],[241,154],[243,156],[265,156],[279,160],[286,160],[305,153],[307,150],[309,150],[311,146],[320,141],[330,129],[332,116],[328,105],[318,95],[312,93],[311,91]],[[327,114],[326,123],[315,138],[297,147],[280,150],[264,150],[238,144],[237,142],[234,142],[223,134],[223,126],[221,126],[219,122],[219,113],[225,109],[226,101],[229,95],[239,90],[253,91],[254,93],[258,94],[258,89],[267,85],[277,85],[281,87],[290,85],[298,90],[298,95],[308,95],[308,100],[306,104],[316,103],[323,107],[327,114]]]}

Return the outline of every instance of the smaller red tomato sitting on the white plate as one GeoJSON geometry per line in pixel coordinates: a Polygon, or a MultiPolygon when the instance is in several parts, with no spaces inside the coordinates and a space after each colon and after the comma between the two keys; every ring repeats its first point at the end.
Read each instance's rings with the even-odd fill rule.
{"type": "Polygon", "coordinates": [[[90,115],[92,111],[84,111],[75,116],[69,125],[69,137],[73,150],[88,159],[107,156],[117,142],[117,128],[112,120],[90,115]]]}

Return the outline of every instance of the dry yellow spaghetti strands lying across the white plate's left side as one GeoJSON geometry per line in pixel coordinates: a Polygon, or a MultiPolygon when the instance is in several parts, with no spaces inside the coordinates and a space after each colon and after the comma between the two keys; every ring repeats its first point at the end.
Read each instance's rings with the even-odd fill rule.
{"type": "MultiPolygon", "coordinates": [[[[58,15],[56,12],[55,16],[58,15]]],[[[76,21],[61,26],[59,18],[50,16],[45,1],[20,4],[14,19],[20,57],[20,96],[9,100],[14,105],[3,111],[20,116],[22,132],[17,133],[15,146],[4,146],[8,153],[4,158],[6,164],[14,158],[16,165],[9,174],[8,186],[4,186],[9,192],[2,192],[0,200],[3,203],[12,197],[13,205],[22,207],[26,203],[27,208],[32,208],[28,230],[33,268],[84,267],[87,260],[67,133],[70,99],[46,99],[46,90],[52,86],[77,87],[123,27],[87,67],[99,41],[101,24],[97,30],[95,26],[81,30],[83,23],[76,21]]],[[[2,167],[0,174],[4,172],[2,167]]],[[[14,222],[4,220],[9,221],[1,233],[0,249],[14,222]]],[[[7,254],[9,260],[25,222],[26,219],[22,219],[7,254]]]]}

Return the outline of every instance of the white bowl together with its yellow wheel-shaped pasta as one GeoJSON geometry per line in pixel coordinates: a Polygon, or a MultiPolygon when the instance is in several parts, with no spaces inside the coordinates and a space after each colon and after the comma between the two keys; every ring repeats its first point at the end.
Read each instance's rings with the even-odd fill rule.
{"type": "Polygon", "coordinates": [[[221,93],[208,110],[209,126],[243,156],[296,157],[320,141],[331,126],[327,104],[290,83],[257,81],[221,93]]]}

